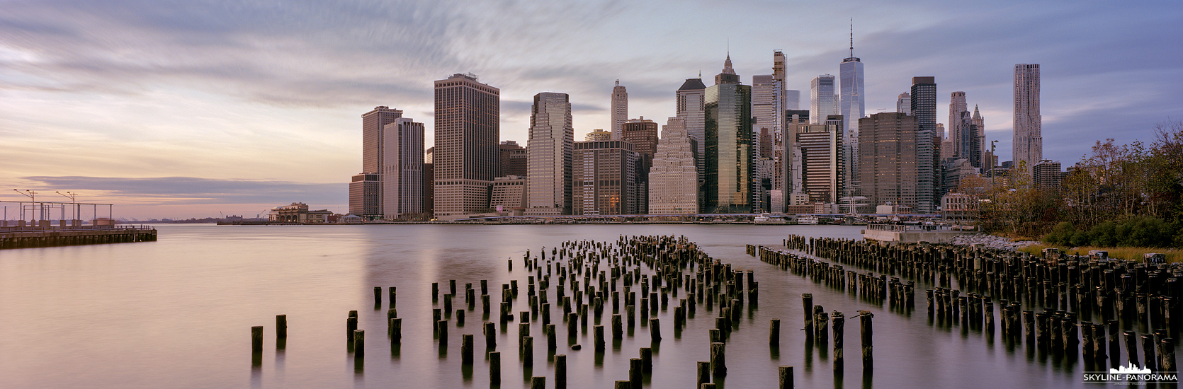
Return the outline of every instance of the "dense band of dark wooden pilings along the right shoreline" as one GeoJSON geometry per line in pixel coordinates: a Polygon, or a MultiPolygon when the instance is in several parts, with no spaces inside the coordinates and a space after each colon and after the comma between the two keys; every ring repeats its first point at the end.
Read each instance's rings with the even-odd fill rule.
{"type": "MultiPolygon", "coordinates": [[[[1148,260],[1139,262],[1110,259],[1104,252],[1069,255],[1049,248],[1042,255],[1030,255],[982,245],[883,245],[797,235],[783,245],[795,252],[756,252],[782,268],[810,274],[841,264],[881,272],[880,280],[898,274],[932,285],[925,290],[930,318],[961,324],[963,331],[982,330],[989,339],[995,332],[996,299],[1003,338],[1026,343],[1029,351],[1082,356],[1098,369],[1106,359],[1110,367],[1119,367],[1119,337],[1125,337],[1129,363],[1155,371],[1175,370],[1172,335],[1179,323],[1171,318],[1179,317],[1183,265],[1162,264],[1159,255],[1148,254],[1148,260]],[[816,264],[821,259],[834,264],[816,264]],[[1143,346],[1140,358],[1138,343],[1143,346]]],[[[907,286],[905,305],[912,299],[907,286]]]]}

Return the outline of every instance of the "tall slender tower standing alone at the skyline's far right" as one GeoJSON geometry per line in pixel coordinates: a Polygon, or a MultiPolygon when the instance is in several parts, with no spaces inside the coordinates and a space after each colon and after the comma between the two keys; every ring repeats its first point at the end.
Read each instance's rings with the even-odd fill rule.
{"type": "Polygon", "coordinates": [[[1014,161],[1030,171],[1043,160],[1043,118],[1039,110],[1039,64],[1015,65],[1014,161]]]}

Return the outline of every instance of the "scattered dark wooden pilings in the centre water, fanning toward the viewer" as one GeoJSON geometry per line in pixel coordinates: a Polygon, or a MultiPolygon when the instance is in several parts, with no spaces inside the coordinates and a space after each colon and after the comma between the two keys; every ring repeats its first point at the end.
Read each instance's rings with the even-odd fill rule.
{"type": "MultiPolygon", "coordinates": [[[[465,328],[466,312],[476,312],[479,305],[484,319],[493,318],[481,323],[492,385],[502,383],[502,356],[497,349],[498,325],[499,331],[505,333],[513,326],[511,322],[517,322],[518,358],[523,372],[530,375],[534,372],[536,343],[542,343],[535,342],[530,329],[534,320],[541,320],[543,333],[538,336],[545,337],[547,357],[554,358],[550,375],[556,389],[568,387],[567,356],[558,354],[561,335],[567,336],[565,348],[578,352],[583,349],[582,344],[576,343],[578,335],[587,333],[590,326],[590,348],[596,352],[595,363],[600,364],[609,335],[613,348],[619,349],[621,341],[633,337],[636,328],[647,328],[651,346],[640,348],[638,356],[629,359],[628,380],[615,382],[615,388],[640,389],[644,377],[652,374],[652,361],[659,350],[662,329],[672,329],[673,336],[680,337],[683,329],[689,320],[694,319],[698,306],[702,305],[702,312],[713,312],[717,316],[707,315],[715,323],[709,330],[710,358],[697,362],[696,387],[713,388],[718,380],[726,376],[729,337],[739,328],[744,310],[756,310],[759,300],[759,283],[752,271],[732,268],[731,264],[710,258],[685,236],[620,236],[615,242],[567,241],[549,251],[543,247],[534,255],[528,251],[522,261],[526,272],[524,296],[529,311],[523,310],[517,315],[513,312],[513,303],[522,293],[517,279],[500,285],[499,300],[492,300],[491,294],[496,294],[491,293],[489,280],[479,280],[479,286],[467,283],[464,290],[458,288],[454,279],[446,285],[431,285],[433,338],[441,357],[448,349],[448,331],[461,331],[465,328]],[[683,296],[679,297],[679,293],[683,296]],[[463,305],[459,306],[458,302],[453,302],[458,296],[464,296],[463,305]],[[671,305],[672,313],[668,312],[671,305]],[[496,316],[490,315],[494,309],[496,316]],[[606,312],[608,310],[610,313],[606,312]],[[551,320],[552,313],[558,313],[558,318],[551,320]],[[601,324],[608,315],[610,332],[601,324]],[[662,325],[660,316],[670,322],[662,325]],[[565,333],[560,333],[561,331],[565,333]]],[[[506,266],[510,272],[516,271],[512,259],[506,266]]],[[[387,338],[392,356],[397,357],[403,333],[402,319],[396,310],[396,288],[390,286],[384,291],[386,293],[381,286],[374,287],[374,304],[380,310],[383,296],[387,297],[387,338]]],[[[278,320],[277,318],[277,323],[278,320]]],[[[285,329],[286,317],[283,323],[285,329]]],[[[345,319],[347,349],[354,354],[354,367],[360,372],[364,369],[366,338],[364,330],[358,329],[357,323],[357,311],[350,311],[345,319]]],[[[838,319],[834,328],[838,356],[841,355],[841,323],[838,319]]],[[[870,316],[865,325],[870,330],[870,316]]],[[[256,355],[261,352],[261,337],[263,328],[252,328],[252,351],[256,355]]],[[[283,337],[286,339],[286,332],[283,337]]],[[[772,319],[770,348],[780,346],[780,320],[772,319]]],[[[463,333],[460,338],[461,362],[471,370],[474,335],[463,333]]],[[[778,388],[793,387],[793,367],[778,367],[778,388]]],[[[531,375],[529,382],[531,388],[542,389],[547,385],[547,377],[531,375]]]]}

